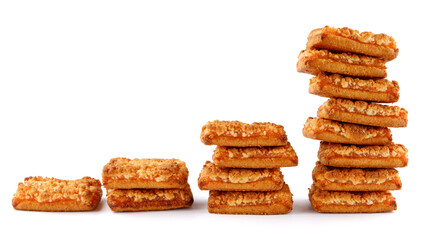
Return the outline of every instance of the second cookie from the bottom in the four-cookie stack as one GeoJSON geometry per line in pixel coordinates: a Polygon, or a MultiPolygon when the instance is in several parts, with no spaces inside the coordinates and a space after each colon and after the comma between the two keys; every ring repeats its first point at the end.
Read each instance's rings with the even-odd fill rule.
{"type": "Polygon", "coordinates": [[[207,161],[199,175],[201,190],[276,191],[284,180],[279,168],[219,168],[207,161]]]}

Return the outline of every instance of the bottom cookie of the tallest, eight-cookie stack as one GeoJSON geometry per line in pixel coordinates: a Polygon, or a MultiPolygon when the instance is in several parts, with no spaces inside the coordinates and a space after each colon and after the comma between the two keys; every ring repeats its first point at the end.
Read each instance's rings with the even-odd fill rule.
{"type": "Polygon", "coordinates": [[[322,213],[377,213],[397,209],[396,199],[388,191],[325,191],[312,185],[309,200],[312,208],[322,213]]]}

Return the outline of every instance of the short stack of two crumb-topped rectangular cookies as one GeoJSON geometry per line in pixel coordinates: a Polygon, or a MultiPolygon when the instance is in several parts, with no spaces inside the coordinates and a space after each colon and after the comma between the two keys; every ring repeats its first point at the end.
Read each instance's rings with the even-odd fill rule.
{"type": "Polygon", "coordinates": [[[152,211],[190,207],[189,171],[178,159],[113,158],[102,172],[112,211],[152,211]]]}

